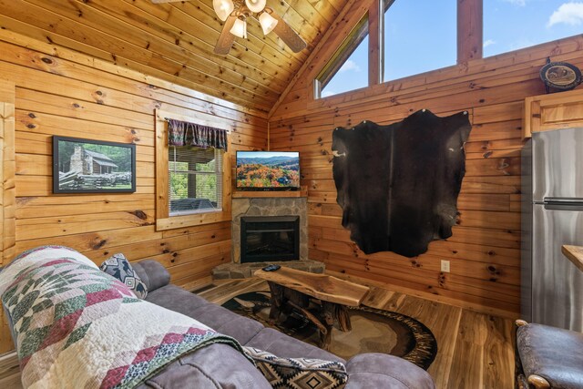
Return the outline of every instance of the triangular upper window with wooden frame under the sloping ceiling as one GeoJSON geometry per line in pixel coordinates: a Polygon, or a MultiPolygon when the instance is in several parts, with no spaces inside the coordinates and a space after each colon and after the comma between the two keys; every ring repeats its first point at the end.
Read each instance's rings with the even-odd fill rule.
{"type": "Polygon", "coordinates": [[[368,87],[368,16],[336,50],[315,81],[315,97],[330,97],[368,87]]]}

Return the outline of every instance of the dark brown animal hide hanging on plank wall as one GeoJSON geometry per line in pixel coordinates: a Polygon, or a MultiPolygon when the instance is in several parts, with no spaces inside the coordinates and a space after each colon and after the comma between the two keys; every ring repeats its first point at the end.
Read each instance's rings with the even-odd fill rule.
{"type": "Polygon", "coordinates": [[[452,235],[470,130],[466,112],[439,118],[428,110],[388,126],[334,129],[336,200],[362,251],[414,257],[452,235]]]}

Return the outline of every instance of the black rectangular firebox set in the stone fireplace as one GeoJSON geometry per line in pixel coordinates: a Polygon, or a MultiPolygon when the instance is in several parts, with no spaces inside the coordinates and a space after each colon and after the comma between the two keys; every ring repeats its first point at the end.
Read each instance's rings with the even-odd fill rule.
{"type": "Polygon", "coordinates": [[[240,262],[298,261],[299,216],[240,218],[240,262]]]}

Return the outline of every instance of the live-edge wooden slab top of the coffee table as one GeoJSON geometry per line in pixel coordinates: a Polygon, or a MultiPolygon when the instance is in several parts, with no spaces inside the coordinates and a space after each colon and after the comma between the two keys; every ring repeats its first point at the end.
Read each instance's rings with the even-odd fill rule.
{"type": "Polygon", "coordinates": [[[349,307],[359,306],[369,289],[354,282],[344,281],[331,275],[281,266],[277,271],[255,271],[255,276],[275,282],[294,291],[308,294],[324,302],[335,302],[349,307]]]}

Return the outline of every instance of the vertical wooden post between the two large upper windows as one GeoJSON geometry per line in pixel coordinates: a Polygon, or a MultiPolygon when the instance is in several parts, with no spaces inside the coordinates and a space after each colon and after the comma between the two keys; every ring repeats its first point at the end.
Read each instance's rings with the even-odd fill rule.
{"type": "Polygon", "coordinates": [[[483,0],[457,0],[457,63],[482,57],[483,0]]]}

